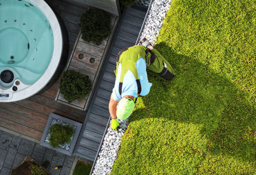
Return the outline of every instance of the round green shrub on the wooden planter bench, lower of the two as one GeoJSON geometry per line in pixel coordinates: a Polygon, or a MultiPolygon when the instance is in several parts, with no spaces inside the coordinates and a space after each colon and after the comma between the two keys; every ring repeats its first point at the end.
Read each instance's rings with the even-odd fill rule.
{"type": "Polygon", "coordinates": [[[76,72],[75,70],[67,70],[60,79],[60,93],[68,101],[84,98],[92,91],[92,82],[87,75],[76,72]]]}

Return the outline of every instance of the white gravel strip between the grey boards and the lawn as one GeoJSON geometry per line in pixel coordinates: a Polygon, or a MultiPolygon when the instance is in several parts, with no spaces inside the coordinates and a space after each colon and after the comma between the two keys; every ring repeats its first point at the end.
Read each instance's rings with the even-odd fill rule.
{"type": "MultiPolygon", "coordinates": [[[[140,4],[145,6],[150,4],[150,1],[148,0],[139,1],[140,4]]],[[[156,44],[156,37],[158,36],[159,30],[163,24],[166,11],[170,8],[171,1],[172,0],[152,0],[152,5],[148,12],[148,17],[140,38],[145,37],[153,45],[156,44]]],[[[108,132],[104,137],[104,142],[99,156],[97,157],[97,162],[95,163],[92,174],[109,174],[112,171],[112,166],[120,147],[122,135],[124,135],[129,119],[118,121],[121,127],[118,132],[113,131],[109,124],[108,132]]]]}

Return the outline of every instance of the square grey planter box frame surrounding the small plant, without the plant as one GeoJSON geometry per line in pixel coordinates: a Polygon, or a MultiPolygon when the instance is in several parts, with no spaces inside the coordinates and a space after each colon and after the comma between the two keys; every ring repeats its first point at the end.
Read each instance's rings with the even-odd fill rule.
{"type": "Polygon", "coordinates": [[[58,152],[63,153],[65,155],[71,156],[73,151],[74,151],[74,148],[76,146],[77,137],[80,133],[81,127],[82,127],[82,123],[78,123],[78,122],[73,121],[71,119],[63,118],[62,116],[51,113],[49,115],[47,124],[46,124],[45,129],[44,129],[44,133],[42,135],[42,138],[41,138],[41,141],[40,141],[39,144],[46,147],[46,148],[54,149],[55,151],[58,151],[58,152]],[[63,148],[52,148],[49,143],[45,142],[45,139],[46,139],[46,137],[49,133],[49,128],[52,125],[52,120],[53,119],[56,119],[56,120],[58,119],[63,123],[67,123],[69,125],[72,125],[72,126],[76,127],[74,135],[73,135],[73,139],[72,139],[72,142],[71,142],[71,145],[70,145],[70,148],[68,150],[63,149],[63,148]]]}

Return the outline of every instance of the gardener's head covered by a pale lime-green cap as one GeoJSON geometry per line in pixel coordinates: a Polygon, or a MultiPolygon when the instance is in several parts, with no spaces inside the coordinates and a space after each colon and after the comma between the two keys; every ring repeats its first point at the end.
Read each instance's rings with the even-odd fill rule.
{"type": "Polygon", "coordinates": [[[118,119],[127,119],[132,114],[135,107],[133,96],[124,96],[116,107],[116,116],[118,119]]]}

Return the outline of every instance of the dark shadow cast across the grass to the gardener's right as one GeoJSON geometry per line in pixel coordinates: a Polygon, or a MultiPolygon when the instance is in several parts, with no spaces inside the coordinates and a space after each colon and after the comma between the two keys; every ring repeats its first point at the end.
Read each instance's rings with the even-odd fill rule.
{"type": "Polygon", "coordinates": [[[149,95],[142,98],[146,106],[142,110],[147,110],[147,116],[140,115],[140,119],[165,118],[202,125],[200,132],[208,139],[208,151],[255,161],[256,110],[253,102],[246,100],[246,94],[208,65],[176,54],[164,43],[156,49],[170,61],[176,77],[168,82],[148,72],[153,86],[149,95]]]}

